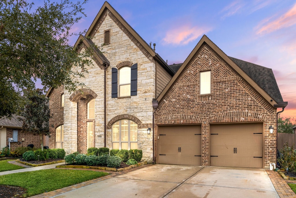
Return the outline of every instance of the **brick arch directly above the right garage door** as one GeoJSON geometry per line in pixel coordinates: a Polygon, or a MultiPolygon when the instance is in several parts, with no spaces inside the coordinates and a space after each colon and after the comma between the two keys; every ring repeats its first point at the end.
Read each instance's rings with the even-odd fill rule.
{"type": "Polygon", "coordinates": [[[251,122],[264,121],[266,115],[249,111],[229,111],[209,117],[209,122],[251,122]]]}

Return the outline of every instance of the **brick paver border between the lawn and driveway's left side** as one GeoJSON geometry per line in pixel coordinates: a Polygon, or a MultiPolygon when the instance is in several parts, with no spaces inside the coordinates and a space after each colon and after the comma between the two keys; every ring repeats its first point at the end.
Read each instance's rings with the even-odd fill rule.
{"type": "MultiPolygon", "coordinates": [[[[113,177],[116,177],[116,176],[119,176],[119,175],[122,175],[122,174],[126,174],[126,173],[129,173],[129,172],[134,171],[134,170],[139,170],[139,169],[145,168],[147,166],[151,166],[151,164],[145,164],[145,165],[138,166],[138,167],[135,167],[135,168],[132,168],[132,169],[123,170],[121,172],[113,172],[113,171],[107,171],[107,170],[94,169],[93,171],[100,171],[100,172],[110,173],[110,175],[100,177],[100,178],[96,178],[96,179],[89,180],[89,181],[85,181],[85,182],[82,182],[82,183],[74,184],[72,186],[68,186],[68,187],[65,187],[65,188],[62,188],[62,189],[57,189],[57,190],[54,190],[54,191],[51,191],[51,192],[38,194],[38,195],[29,197],[29,198],[49,198],[49,197],[53,197],[53,196],[56,196],[56,195],[59,195],[59,194],[62,194],[62,193],[65,193],[65,192],[68,192],[68,191],[71,191],[71,190],[74,190],[74,189],[81,188],[83,186],[87,186],[87,185],[90,185],[90,184],[93,184],[93,183],[104,181],[106,179],[110,179],[110,178],[113,178],[113,177]]],[[[63,169],[68,169],[68,168],[63,168],[63,169]]],[[[71,169],[85,170],[83,168],[71,168],[71,169]]]]}

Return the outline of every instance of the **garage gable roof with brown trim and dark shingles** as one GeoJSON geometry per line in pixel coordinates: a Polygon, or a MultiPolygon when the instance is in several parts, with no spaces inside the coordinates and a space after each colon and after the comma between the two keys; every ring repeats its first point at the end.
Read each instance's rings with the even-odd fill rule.
{"type": "Polygon", "coordinates": [[[191,59],[204,43],[209,45],[223,60],[226,61],[226,63],[229,64],[229,66],[231,66],[244,80],[246,80],[257,92],[259,92],[260,95],[262,95],[263,98],[265,98],[266,101],[268,101],[272,106],[287,106],[287,102],[283,102],[283,99],[281,98],[281,93],[279,92],[279,88],[276,84],[276,80],[271,69],[227,56],[217,45],[213,43],[213,41],[211,41],[205,35],[202,36],[200,41],[194,47],[184,63],[181,64],[181,66],[180,64],[176,64],[175,66],[173,66],[174,70],[177,70],[178,66],[180,66],[180,68],[176,71],[176,74],[173,76],[173,78],[170,80],[170,82],[167,84],[167,86],[160,93],[156,100],[162,100],[163,96],[170,89],[170,87],[173,86],[184,68],[187,66],[187,64],[191,61],[191,59]],[[260,74],[253,74],[258,72],[258,70],[260,71],[261,75],[266,76],[262,77],[260,76],[260,74]]]}

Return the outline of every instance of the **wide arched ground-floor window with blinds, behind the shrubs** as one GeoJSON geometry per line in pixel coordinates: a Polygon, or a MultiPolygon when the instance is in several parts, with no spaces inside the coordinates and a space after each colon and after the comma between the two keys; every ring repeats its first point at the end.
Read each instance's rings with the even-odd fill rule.
{"type": "Polygon", "coordinates": [[[112,125],[112,149],[138,149],[138,124],[123,119],[112,125]]]}

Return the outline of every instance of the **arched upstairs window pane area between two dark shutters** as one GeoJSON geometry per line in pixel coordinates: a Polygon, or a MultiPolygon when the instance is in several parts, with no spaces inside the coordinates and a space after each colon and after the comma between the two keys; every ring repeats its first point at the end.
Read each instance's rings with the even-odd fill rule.
{"type": "Polygon", "coordinates": [[[131,68],[119,69],[119,97],[131,95],[131,68]]]}

